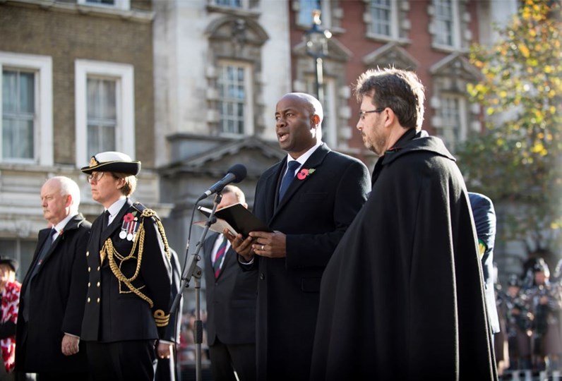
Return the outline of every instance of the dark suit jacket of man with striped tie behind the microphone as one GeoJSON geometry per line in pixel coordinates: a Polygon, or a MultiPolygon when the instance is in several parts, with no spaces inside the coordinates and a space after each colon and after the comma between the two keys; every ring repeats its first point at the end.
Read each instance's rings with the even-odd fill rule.
{"type": "Polygon", "coordinates": [[[219,237],[222,234],[211,234],[203,242],[208,344],[215,344],[217,337],[224,344],[255,343],[258,272],[242,271],[231,246],[215,279],[211,255],[219,237]]]}

